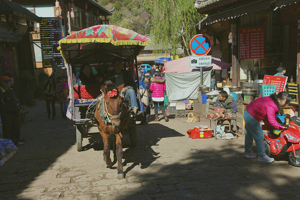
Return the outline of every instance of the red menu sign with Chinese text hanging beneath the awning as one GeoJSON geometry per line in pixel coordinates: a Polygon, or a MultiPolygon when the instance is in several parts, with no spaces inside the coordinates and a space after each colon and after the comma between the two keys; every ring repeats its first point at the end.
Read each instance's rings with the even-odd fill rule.
{"type": "Polygon", "coordinates": [[[265,58],[265,27],[238,29],[239,59],[265,58]]]}

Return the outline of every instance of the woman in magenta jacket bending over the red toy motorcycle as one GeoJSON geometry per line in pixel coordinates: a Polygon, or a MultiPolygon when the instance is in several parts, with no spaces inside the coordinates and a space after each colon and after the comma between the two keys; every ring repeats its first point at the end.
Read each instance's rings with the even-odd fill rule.
{"type": "Polygon", "coordinates": [[[261,97],[249,103],[244,111],[245,121],[245,152],[244,157],[254,158],[257,155],[253,153],[251,145],[253,139],[256,143],[258,162],[271,163],[274,158],[265,154],[265,145],[263,142],[264,132],[259,124],[263,121],[268,128],[274,127],[278,130],[286,129],[281,126],[275,118],[275,115],[284,115],[282,107],[291,101],[291,96],[287,92],[274,93],[268,97],[261,97]]]}

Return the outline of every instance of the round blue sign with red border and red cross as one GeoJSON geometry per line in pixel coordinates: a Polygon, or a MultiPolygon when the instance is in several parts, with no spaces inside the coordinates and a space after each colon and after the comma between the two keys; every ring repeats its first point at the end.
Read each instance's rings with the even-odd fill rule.
{"type": "Polygon", "coordinates": [[[210,40],[207,36],[198,34],[190,40],[190,50],[196,55],[205,55],[210,51],[210,40]]]}

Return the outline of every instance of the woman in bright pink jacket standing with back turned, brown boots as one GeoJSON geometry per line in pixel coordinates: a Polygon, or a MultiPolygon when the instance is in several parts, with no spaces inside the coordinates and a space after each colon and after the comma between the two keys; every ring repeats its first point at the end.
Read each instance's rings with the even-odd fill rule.
{"type": "Polygon", "coordinates": [[[150,90],[152,91],[152,100],[154,104],[155,120],[158,121],[158,104],[161,112],[164,115],[165,121],[169,121],[167,113],[164,108],[164,91],[166,90],[166,79],[161,77],[158,71],[154,72],[154,78],[151,78],[150,90]]]}

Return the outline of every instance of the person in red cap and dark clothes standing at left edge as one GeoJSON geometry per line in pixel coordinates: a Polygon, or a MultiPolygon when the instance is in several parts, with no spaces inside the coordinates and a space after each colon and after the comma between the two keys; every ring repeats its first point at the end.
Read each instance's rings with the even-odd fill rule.
{"type": "Polygon", "coordinates": [[[10,90],[11,80],[8,76],[0,78],[0,116],[4,139],[11,139],[16,145],[23,145],[19,142],[20,110],[13,90],[10,90]]]}

